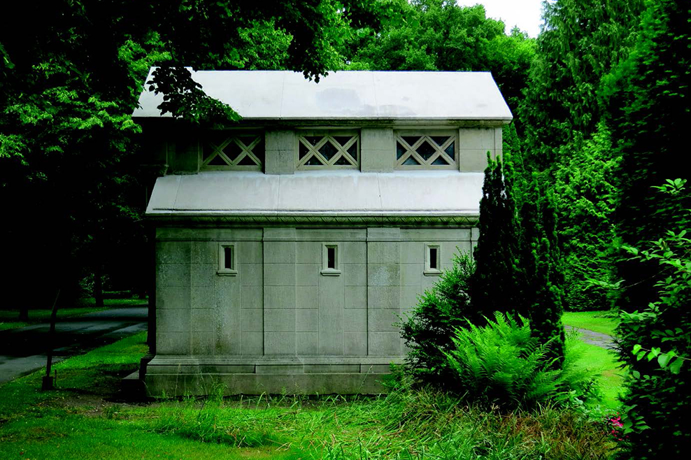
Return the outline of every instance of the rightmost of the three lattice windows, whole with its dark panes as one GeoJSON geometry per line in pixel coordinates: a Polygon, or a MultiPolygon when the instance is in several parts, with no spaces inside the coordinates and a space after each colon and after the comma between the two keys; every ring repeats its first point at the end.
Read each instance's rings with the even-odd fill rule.
{"type": "Polygon", "coordinates": [[[420,136],[399,132],[396,134],[397,168],[455,169],[457,168],[456,135],[429,133],[420,136]]]}

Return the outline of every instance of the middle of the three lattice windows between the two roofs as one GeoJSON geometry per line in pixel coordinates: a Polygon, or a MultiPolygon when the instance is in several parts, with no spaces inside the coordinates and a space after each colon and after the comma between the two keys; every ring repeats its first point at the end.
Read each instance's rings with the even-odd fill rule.
{"type": "Polygon", "coordinates": [[[297,154],[298,169],[359,168],[359,136],[353,133],[300,136],[297,154]]]}

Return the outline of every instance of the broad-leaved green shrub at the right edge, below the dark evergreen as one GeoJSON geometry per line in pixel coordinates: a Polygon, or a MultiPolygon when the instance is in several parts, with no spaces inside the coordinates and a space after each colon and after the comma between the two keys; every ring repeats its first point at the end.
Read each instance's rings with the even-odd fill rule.
{"type": "MultiPolygon", "coordinates": [[[[685,182],[659,187],[669,199],[685,182]]],[[[691,210],[679,213],[682,231],[667,231],[645,250],[625,247],[632,263],[655,267],[657,299],[621,312],[620,359],[628,366],[625,454],[636,459],[681,458],[691,445],[691,210]]],[[[622,456],[628,458],[626,456],[622,456]]]]}

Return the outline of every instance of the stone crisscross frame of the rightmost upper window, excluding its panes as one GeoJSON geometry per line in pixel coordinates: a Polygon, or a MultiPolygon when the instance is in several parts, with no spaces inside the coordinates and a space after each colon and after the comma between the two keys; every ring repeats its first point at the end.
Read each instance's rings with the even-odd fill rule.
{"type": "Polygon", "coordinates": [[[408,171],[408,170],[415,170],[415,169],[425,169],[425,170],[438,170],[438,169],[443,169],[443,170],[448,170],[448,169],[454,169],[458,170],[459,169],[459,145],[458,145],[458,130],[457,129],[399,129],[397,131],[394,131],[394,152],[396,152],[396,169],[402,170],[402,171],[408,171]],[[415,136],[418,137],[418,141],[415,141],[413,145],[408,144],[404,140],[404,137],[411,137],[415,136]],[[436,142],[432,140],[432,137],[436,136],[446,136],[450,139],[448,139],[443,145],[439,146],[436,142]],[[429,145],[434,148],[435,152],[432,154],[431,157],[427,161],[425,161],[424,158],[420,157],[420,154],[418,152],[415,152],[417,148],[420,147],[423,143],[429,143],[429,145]],[[404,153],[400,158],[398,157],[398,147],[399,143],[401,143],[401,146],[404,147],[406,150],[406,153],[404,153]],[[453,159],[448,157],[448,154],[444,152],[445,148],[444,145],[448,147],[450,143],[453,143],[454,146],[454,157],[453,159]],[[415,161],[418,161],[420,164],[404,164],[404,162],[409,158],[413,157],[415,161]],[[445,161],[452,160],[451,164],[432,164],[438,157],[443,157],[445,161]]]}

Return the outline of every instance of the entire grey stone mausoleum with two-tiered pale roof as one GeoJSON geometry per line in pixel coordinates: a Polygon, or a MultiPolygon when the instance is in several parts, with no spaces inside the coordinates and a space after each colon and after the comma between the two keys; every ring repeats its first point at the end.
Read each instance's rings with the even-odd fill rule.
{"type": "Polygon", "coordinates": [[[164,172],[149,394],[381,391],[399,317],[478,238],[511,120],[490,73],[198,71],[227,129],[134,113],[164,172]]]}

